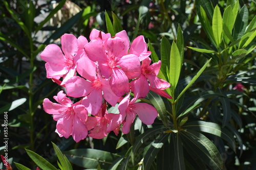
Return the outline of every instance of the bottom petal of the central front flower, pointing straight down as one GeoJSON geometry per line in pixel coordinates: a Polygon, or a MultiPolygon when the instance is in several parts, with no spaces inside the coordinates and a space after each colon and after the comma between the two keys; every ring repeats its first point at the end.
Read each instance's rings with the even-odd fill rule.
{"type": "Polygon", "coordinates": [[[86,107],[88,113],[95,115],[98,113],[102,105],[102,91],[101,89],[94,89],[92,92],[83,98],[82,103],[86,107]]]}

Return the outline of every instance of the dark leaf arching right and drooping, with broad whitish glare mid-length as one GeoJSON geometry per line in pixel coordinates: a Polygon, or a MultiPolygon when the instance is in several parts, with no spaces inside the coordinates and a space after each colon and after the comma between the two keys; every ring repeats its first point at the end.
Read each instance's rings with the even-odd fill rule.
{"type": "Polygon", "coordinates": [[[182,128],[219,136],[230,144],[233,151],[236,151],[236,142],[234,141],[233,135],[227,129],[221,128],[221,126],[216,123],[199,120],[188,122],[182,128]]]}

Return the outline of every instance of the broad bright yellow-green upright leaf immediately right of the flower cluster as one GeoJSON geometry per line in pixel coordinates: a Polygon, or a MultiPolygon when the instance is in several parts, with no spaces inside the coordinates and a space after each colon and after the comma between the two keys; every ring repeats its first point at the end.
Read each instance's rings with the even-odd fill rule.
{"type": "Polygon", "coordinates": [[[181,61],[180,53],[176,43],[173,41],[172,48],[170,50],[170,62],[169,62],[169,83],[171,84],[173,97],[174,90],[178,84],[180,78],[181,61]]]}

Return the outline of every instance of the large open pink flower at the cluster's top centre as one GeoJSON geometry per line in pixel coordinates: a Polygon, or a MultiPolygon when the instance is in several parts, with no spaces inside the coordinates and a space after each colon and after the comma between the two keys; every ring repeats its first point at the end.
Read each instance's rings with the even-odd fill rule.
{"type": "MultiPolygon", "coordinates": [[[[99,35],[102,36],[101,33],[99,35]]],[[[84,51],[92,61],[98,62],[100,74],[105,79],[110,79],[112,91],[117,96],[122,96],[130,92],[129,79],[141,74],[139,56],[135,54],[135,50],[128,54],[130,43],[125,31],[108,39],[100,36],[86,44],[84,51]]]]}

